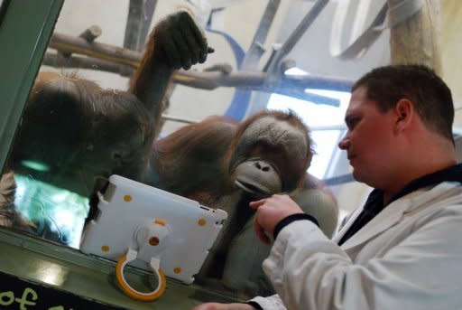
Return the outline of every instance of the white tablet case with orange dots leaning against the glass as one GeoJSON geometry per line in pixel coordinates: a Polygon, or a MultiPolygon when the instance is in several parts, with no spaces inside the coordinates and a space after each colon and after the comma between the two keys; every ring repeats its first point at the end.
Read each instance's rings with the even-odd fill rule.
{"type": "Polygon", "coordinates": [[[120,175],[109,177],[98,209],[97,219],[84,231],[82,252],[117,261],[131,247],[139,259],[128,265],[149,269],[146,262],[155,256],[166,277],[187,284],[194,281],[227,217],[226,211],[120,175]],[[159,244],[143,242],[154,235],[159,244]],[[140,248],[141,243],[147,246],[140,248]]]}

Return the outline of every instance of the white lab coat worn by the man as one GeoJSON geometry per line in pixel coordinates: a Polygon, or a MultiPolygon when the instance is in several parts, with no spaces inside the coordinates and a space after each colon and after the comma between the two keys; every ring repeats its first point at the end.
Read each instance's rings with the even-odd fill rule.
{"type": "Polygon", "coordinates": [[[263,261],[279,296],[253,300],[263,309],[462,309],[460,183],[405,195],[338,247],[360,212],[333,240],[310,221],[284,227],[263,261]]]}

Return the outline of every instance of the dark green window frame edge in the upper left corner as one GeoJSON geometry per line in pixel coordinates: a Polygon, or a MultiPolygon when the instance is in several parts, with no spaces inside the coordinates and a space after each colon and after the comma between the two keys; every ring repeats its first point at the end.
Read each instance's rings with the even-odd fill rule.
{"type": "Polygon", "coordinates": [[[63,0],[5,0],[0,20],[0,164],[8,155],[63,0]],[[26,23],[24,21],[27,21],[26,23]]]}

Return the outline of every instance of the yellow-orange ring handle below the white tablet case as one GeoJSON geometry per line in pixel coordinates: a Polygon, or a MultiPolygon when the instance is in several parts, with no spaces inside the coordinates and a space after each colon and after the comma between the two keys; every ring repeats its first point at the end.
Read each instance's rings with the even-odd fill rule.
{"type": "Polygon", "coordinates": [[[133,259],[127,259],[127,256],[125,255],[117,261],[117,266],[115,267],[115,277],[117,277],[117,283],[122,288],[124,293],[136,300],[141,301],[152,301],[162,296],[163,292],[165,291],[166,281],[161,268],[152,268],[154,273],[157,275],[157,278],[159,279],[158,285],[154,291],[150,293],[142,293],[135,290],[133,287],[130,287],[128,282],[125,280],[124,268],[125,265],[131,260],[133,259]]]}

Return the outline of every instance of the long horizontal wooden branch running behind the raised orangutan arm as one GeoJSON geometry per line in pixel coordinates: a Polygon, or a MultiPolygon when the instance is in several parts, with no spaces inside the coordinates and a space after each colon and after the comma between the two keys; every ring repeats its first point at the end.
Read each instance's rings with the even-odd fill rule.
{"type": "MultiPolygon", "coordinates": [[[[64,68],[84,68],[90,70],[106,70],[129,76],[139,64],[142,54],[114,45],[87,42],[81,37],[54,33],[51,37],[50,47],[58,50],[58,54],[47,52],[43,64],[64,68]],[[72,55],[64,58],[60,52],[79,53],[87,57],[72,55]]],[[[237,89],[249,89],[265,92],[277,92],[282,95],[299,99],[313,99],[318,95],[305,94],[305,89],[332,89],[349,91],[353,81],[329,77],[309,76],[286,76],[268,83],[274,73],[240,71],[231,72],[226,70],[223,64],[216,65],[219,68],[209,68],[206,71],[177,70],[173,72],[172,82],[196,89],[217,89],[218,87],[233,87],[237,89]],[[215,71],[210,71],[215,70],[215,71]],[[294,90],[296,89],[296,90],[294,90]]],[[[323,103],[335,104],[326,98],[323,103]],[[329,103],[330,102],[330,103],[329,103]]]]}

